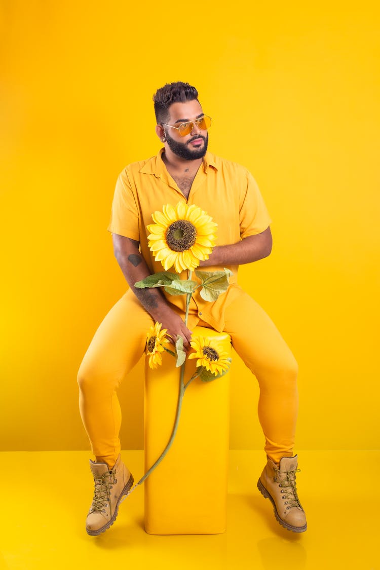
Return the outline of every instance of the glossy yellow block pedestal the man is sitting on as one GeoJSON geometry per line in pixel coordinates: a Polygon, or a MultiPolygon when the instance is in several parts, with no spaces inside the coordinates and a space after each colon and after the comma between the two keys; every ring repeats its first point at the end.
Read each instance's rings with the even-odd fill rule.
{"type": "MultiPolygon", "coordinates": [[[[230,336],[195,327],[193,336],[213,336],[226,352],[230,336]]],[[[195,372],[186,361],[185,383],[195,372]]],[[[180,369],[164,355],[162,367],[145,368],[145,471],[161,455],[173,430],[180,369]]],[[[229,435],[229,374],[211,382],[197,378],[183,396],[173,445],[146,479],[145,530],[149,534],[218,534],[226,530],[229,435]]]]}

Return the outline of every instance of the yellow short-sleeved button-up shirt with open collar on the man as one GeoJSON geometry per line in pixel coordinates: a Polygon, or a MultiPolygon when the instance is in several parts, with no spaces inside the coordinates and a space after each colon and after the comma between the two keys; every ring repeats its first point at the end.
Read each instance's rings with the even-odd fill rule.
{"type": "MultiPolygon", "coordinates": [[[[187,202],[205,210],[218,224],[216,246],[237,243],[267,229],[271,219],[258,185],[246,168],[207,152],[186,200],[166,170],[161,158],[163,152],[164,149],[161,149],[157,156],[134,162],[122,170],[116,182],[108,226],[113,234],[140,242],[141,254],[152,274],[164,271],[164,268],[161,262],[154,260],[148,247],[149,231],[146,226],[154,223],[152,213],[162,210],[165,204],[175,206],[178,202],[187,202]]],[[[190,304],[190,312],[198,313],[217,331],[222,331],[224,327],[224,308],[234,300],[240,289],[237,284],[238,265],[230,265],[228,269],[233,275],[226,293],[210,303],[204,301],[197,290],[190,304]]],[[[216,271],[220,267],[207,267],[205,270],[216,271]]],[[[174,268],[170,271],[174,271],[174,268]]],[[[181,279],[187,278],[187,271],[183,271],[181,279]]],[[[197,280],[194,273],[193,279],[197,280]]],[[[170,303],[185,312],[186,295],[164,294],[170,303]]]]}

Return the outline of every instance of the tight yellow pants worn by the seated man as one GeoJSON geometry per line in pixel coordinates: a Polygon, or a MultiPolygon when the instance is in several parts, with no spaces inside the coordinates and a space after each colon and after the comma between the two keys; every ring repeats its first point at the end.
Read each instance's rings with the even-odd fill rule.
{"type": "MultiPolygon", "coordinates": [[[[268,315],[241,291],[226,308],[224,331],[260,386],[259,420],[265,452],[278,463],[291,457],[298,409],[297,363],[268,315]]],[[[145,349],[152,317],[132,291],[109,311],[97,329],[78,373],[81,418],[96,461],[113,467],[120,453],[121,410],[116,390],[145,349]]],[[[209,327],[197,314],[188,327],[209,327]]]]}

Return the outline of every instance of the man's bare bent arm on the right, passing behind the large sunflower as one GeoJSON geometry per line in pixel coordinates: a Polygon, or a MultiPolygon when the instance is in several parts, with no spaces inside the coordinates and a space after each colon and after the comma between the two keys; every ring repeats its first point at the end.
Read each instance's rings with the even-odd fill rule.
{"type": "Polygon", "coordinates": [[[238,243],[215,246],[209,259],[201,261],[199,265],[201,267],[243,265],[268,257],[271,251],[272,234],[271,229],[267,227],[260,234],[248,235],[247,238],[243,238],[238,243]]]}

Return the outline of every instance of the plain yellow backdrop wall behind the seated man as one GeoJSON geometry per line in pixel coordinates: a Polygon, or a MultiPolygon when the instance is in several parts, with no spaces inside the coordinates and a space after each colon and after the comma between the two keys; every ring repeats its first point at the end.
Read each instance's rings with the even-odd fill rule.
{"type": "MultiPolygon", "coordinates": [[[[210,150],[247,166],[271,257],[241,281],[300,364],[297,447],[378,447],[379,9],[369,2],[0,4],[2,450],[88,449],[76,370],[125,289],[117,174],[160,148],[153,92],[188,81],[210,150]]],[[[120,390],[142,447],[142,363],[120,390]]],[[[232,449],[261,449],[234,359],[232,449]]]]}

